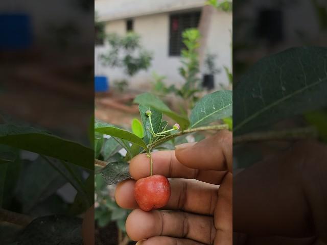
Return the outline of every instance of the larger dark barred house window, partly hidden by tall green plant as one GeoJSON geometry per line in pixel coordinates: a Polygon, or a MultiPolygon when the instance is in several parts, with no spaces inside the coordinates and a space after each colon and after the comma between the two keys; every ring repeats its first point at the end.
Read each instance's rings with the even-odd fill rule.
{"type": "Polygon", "coordinates": [[[169,56],[179,56],[185,47],[182,33],[185,29],[197,28],[200,21],[200,11],[170,15],[169,56]]]}

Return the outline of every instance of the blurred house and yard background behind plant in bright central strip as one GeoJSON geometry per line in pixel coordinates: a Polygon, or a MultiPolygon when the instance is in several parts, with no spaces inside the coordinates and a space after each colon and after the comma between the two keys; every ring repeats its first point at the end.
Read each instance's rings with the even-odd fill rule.
{"type": "MultiPolygon", "coordinates": [[[[151,92],[188,116],[205,94],[231,89],[231,11],[231,1],[95,0],[95,117],[130,130],[132,120],[141,119],[133,104],[138,94],[151,92]]],[[[169,128],[175,123],[165,120],[169,128]]],[[[174,144],[207,135],[179,137],[174,144]]],[[[96,158],[107,161],[114,140],[99,137],[96,158]]],[[[101,175],[95,181],[98,244],[135,244],[125,230],[130,210],[115,203],[115,186],[101,175]]]]}

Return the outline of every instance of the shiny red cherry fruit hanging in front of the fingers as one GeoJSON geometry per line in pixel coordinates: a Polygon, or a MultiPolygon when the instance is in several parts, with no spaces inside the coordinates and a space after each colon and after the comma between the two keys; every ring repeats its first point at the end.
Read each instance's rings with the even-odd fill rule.
{"type": "Polygon", "coordinates": [[[170,198],[170,184],[165,176],[153,175],[139,179],[134,187],[135,200],[144,211],[164,207],[170,198]]]}

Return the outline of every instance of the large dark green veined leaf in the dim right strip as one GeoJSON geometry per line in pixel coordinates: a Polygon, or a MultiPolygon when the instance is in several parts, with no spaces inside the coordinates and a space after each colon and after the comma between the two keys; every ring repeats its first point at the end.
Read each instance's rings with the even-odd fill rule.
{"type": "Polygon", "coordinates": [[[246,133],[327,104],[327,48],[297,47],[256,63],[234,89],[233,132],[246,133]]]}

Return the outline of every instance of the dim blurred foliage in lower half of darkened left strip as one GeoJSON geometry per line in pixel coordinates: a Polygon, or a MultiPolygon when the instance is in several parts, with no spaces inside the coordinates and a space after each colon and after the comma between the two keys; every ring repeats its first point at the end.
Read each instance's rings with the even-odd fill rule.
{"type": "MultiPolygon", "coordinates": [[[[82,220],[76,215],[94,203],[94,168],[88,165],[93,152],[48,131],[4,119],[0,124],[0,211],[5,215],[0,219],[9,220],[1,224],[0,237],[6,238],[1,244],[40,244],[44,239],[80,244],[82,220]],[[73,202],[58,192],[66,184],[76,191],[73,202]],[[55,227],[55,233],[49,233],[49,227],[55,227]]],[[[68,195],[71,198],[72,193],[68,195]]]]}

